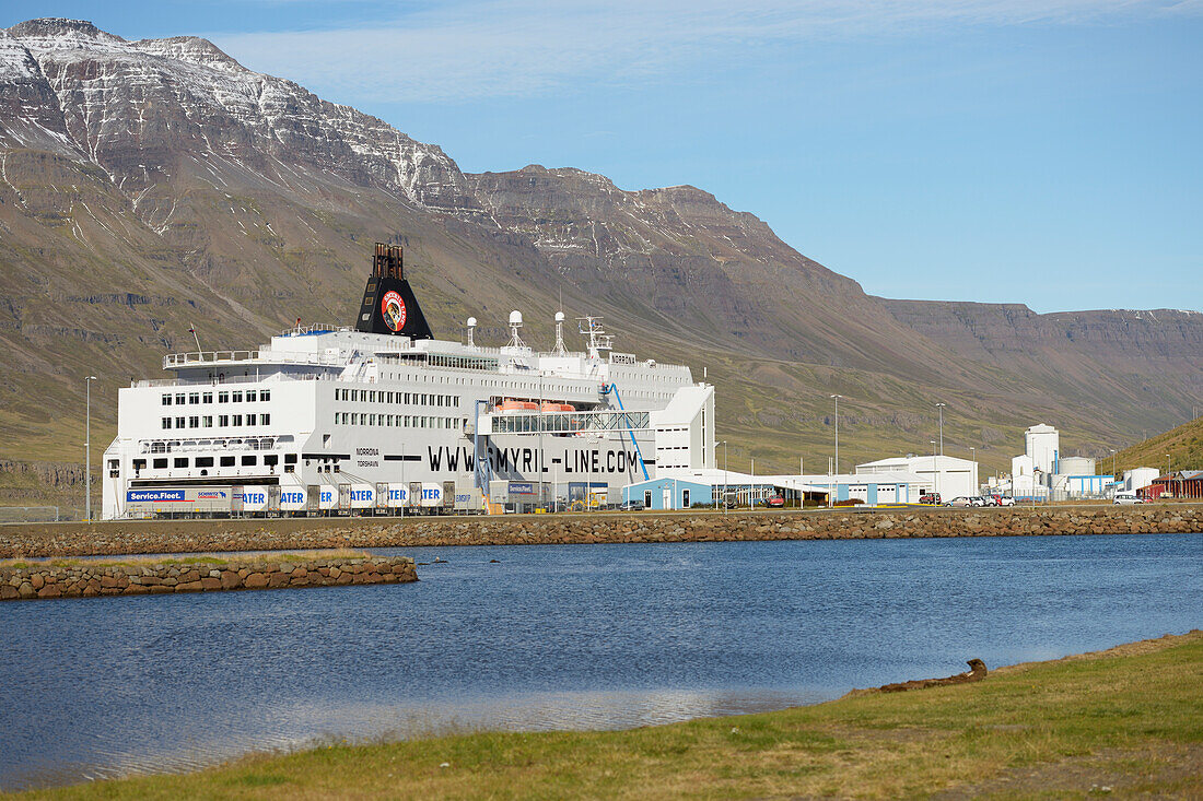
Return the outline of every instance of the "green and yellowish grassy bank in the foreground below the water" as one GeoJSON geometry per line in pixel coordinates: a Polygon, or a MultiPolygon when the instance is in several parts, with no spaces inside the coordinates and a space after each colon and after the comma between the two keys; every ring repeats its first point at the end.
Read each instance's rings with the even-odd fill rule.
{"type": "Polygon", "coordinates": [[[29,797],[1139,794],[1203,797],[1203,631],[1003,668],[973,684],[855,693],[782,712],[630,731],[334,744],[29,797]]]}

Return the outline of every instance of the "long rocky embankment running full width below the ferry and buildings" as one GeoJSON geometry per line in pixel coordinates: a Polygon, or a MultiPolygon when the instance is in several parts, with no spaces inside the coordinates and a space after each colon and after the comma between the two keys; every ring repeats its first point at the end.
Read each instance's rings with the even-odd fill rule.
{"type": "Polygon", "coordinates": [[[1203,504],[480,517],[114,521],[0,527],[0,558],[455,545],[1196,534],[1203,504]]]}

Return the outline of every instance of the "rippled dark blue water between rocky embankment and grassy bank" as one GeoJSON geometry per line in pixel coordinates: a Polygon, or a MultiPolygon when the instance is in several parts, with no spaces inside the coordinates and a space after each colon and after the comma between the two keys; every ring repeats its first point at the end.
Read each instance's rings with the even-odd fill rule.
{"type": "Polygon", "coordinates": [[[1203,625],[1198,534],[384,552],[448,563],[408,586],[4,604],[0,788],[782,708],[1203,625]]]}

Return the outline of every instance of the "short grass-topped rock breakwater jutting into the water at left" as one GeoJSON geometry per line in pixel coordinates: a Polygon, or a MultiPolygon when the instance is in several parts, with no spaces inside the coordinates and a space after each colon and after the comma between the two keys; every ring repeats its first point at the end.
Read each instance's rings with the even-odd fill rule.
{"type": "Polygon", "coordinates": [[[408,557],[271,554],[257,558],[0,563],[0,600],[150,595],[417,581],[408,557]]]}

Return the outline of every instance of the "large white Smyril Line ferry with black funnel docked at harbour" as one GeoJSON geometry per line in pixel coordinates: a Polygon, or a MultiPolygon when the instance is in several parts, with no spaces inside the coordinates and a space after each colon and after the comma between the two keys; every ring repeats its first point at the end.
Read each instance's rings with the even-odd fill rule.
{"type": "Polygon", "coordinates": [[[616,352],[433,338],[402,250],[377,244],[355,327],[297,326],[257,350],[170,354],[118,398],[103,516],[408,514],[614,500],[713,468],[713,387],[616,352]],[[603,493],[605,493],[603,496],[603,493]]]}

